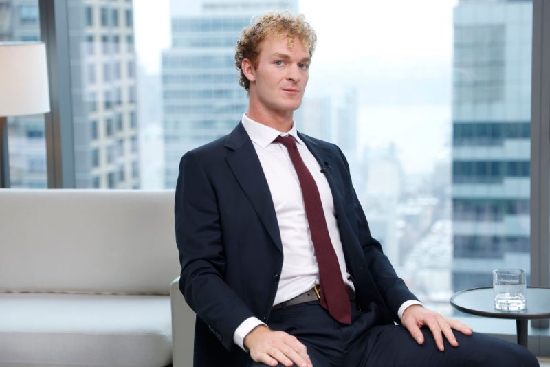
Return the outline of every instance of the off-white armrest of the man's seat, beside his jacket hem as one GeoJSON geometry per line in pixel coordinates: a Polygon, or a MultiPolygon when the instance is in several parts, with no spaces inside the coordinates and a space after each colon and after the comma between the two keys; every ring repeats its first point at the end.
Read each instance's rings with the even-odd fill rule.
{"type": "Polygon", "coordinates": [[[172,359],[173,367],[193,365],[195,312],[190,309],[179,291],[179,276],[170,285],[172,306],[172,359]]]}

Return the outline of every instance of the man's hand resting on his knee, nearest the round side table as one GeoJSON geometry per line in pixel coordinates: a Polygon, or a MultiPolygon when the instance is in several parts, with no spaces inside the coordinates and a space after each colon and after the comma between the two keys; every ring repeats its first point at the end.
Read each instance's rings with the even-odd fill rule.
{"type": "Polygon", "coordinates": [[[472,328],[458,320],[443,318],[439,313],[425,309],[419,304],[413,304],[405,309],[401,324],[405,326],[410,335],[415,338],[418,344],[423,344],[424,336],[420,331],[421,326],[428,326],[434,335],[435,344],[439,351],[443,352],[443,335],[452,346],[459,346],[452,329],[458,330],[464,335],[472,335],[472,328]]]}

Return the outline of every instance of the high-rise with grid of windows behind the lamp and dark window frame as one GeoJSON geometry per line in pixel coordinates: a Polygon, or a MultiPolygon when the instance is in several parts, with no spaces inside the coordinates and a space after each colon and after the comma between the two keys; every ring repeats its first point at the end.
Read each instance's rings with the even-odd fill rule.
{"type": "MultiPolygon", "coordinates": [[[[132,3],[80,0],[67,7],[76,187],[137,188],[132,3]]],[[[0,0],[0,41],[39,39],[38,0],[0,0]]],[[[43,116],[8,123],[12,186],[47,186],[43,116]]]]}

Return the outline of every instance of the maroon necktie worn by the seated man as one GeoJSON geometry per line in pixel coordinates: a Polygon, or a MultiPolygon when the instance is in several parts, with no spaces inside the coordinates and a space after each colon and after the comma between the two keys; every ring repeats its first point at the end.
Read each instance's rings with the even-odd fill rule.
{"type": "Polygon", "coordinates": [[[302,188],[305,214],[319,266],[320,304],[329,311],[333,318],[342,324],[351,324],[349,295],[342,279],[336,252],[332,247],[329,228],[327,227],[327,221],[325,221],[325,212],[322,209],[321,197],[314,177],[305,166],[302,157],[300,157],[296,140],[292,135],[278,136],[274,142],[287,147],[302,188]]]}

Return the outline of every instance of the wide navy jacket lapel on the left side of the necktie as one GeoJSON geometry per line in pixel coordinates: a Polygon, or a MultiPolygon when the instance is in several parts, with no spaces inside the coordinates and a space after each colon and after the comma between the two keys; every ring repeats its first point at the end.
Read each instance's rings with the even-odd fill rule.
{"type": "Polygon", "coordinates": [[[263,174],[260,159],[246,133],[243,124],[239,123],[225,142],[228,162],[239,185],[258,214],[265,230],[270,234],[277,248],[283,252],[281,233],[273,205],[270,188],[263,174]]]}

